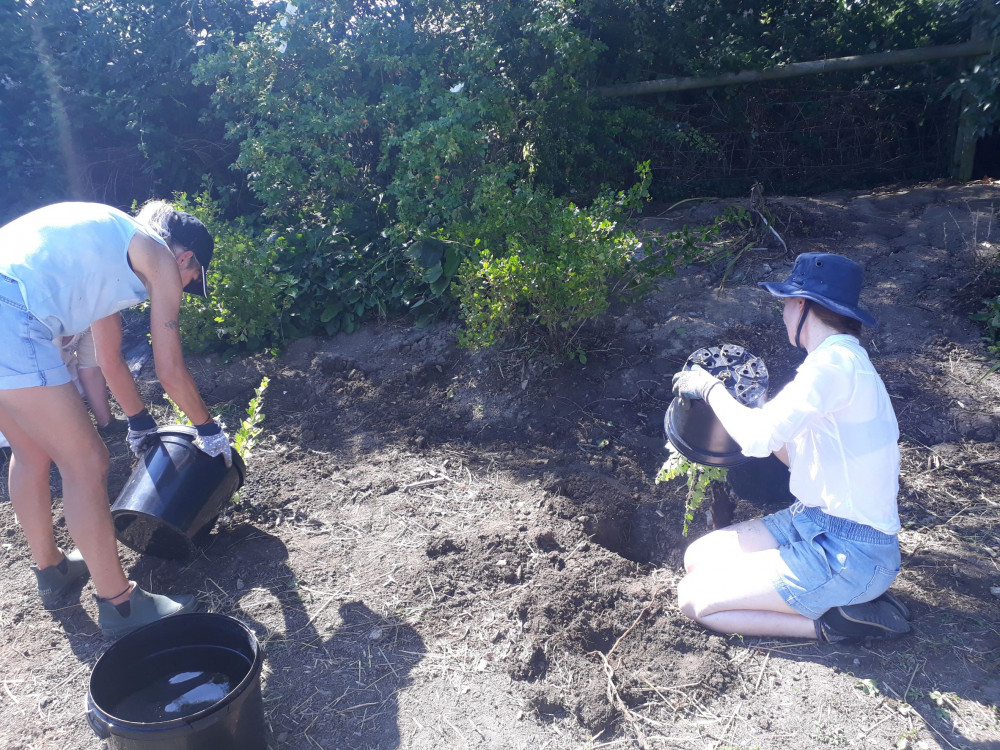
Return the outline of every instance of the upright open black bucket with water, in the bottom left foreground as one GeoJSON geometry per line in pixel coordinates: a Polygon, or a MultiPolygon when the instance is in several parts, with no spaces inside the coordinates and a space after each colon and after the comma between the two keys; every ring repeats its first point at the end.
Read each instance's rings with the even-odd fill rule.
{"type": "Polygon", "coordinates": [[[266,750],[263,663],[257,638],[232,617],[158,620],[97,660],[87,723],[109,750],[266,750]]]}

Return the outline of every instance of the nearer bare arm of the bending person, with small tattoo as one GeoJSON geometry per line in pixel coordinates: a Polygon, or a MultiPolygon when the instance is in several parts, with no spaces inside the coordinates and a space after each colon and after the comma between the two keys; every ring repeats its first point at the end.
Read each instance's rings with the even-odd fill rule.
{"type": "Polygon", "coordinates": [[[192,424],[204,425],[212,417],[184,364],[181,351],[178,324],[181,277],[177,261],[165,245],[142,234],[133,237],[128,257],[149,292],[149,330],[153,339],[156,377],[192,424]]]}

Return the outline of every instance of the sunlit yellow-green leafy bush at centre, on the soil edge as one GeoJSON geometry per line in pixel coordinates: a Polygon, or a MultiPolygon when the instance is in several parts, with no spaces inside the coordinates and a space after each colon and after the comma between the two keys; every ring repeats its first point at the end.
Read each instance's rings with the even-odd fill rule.
{"type": "Polygon", "coordinates": [[[614,282],[636,266],[640,243],[622,221],[648,195],[648,164],[639,175],[588,209],[524,182],[482,185],[476,221],[444,232],[478,253],[458,270],[460,343],[478,349],[534,332],[550,350],[572,352],[580,325],[604,312],[614,282]]]}

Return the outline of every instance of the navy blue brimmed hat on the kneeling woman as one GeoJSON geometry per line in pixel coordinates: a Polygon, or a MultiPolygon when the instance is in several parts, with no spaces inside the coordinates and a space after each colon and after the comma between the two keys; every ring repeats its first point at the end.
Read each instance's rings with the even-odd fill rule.
{"type": "Polygon", "coordinates": [[[872,328],[876,320],[858,306],[864,271],[857,263],[833,253],[802,253],[784,281],[761,281],[775,297],[802,297],[872,328]]]}

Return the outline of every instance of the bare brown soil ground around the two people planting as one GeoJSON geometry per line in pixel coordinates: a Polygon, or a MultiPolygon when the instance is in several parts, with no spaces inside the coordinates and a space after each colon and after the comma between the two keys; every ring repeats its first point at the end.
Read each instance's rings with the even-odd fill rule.
{"type": "MultiPolygon", "coordinates": [[[[707,224],[744,204],[663,206],[643,224],[707,224]]],[[[275,749],[1000,748],[1000,374],[969,319],[1000,293],[1000,187],[766,206],[787,251],[762,232],[728,273],[682,270],[586,332],[585,365],[471,354],[450,326],[391,323],[276,358],[191,359],[230,425],[271,379],[264,435],[240,504],[198,555],[123,548],[126,570],[254,629],[275,749]],[[772,388],[792,376],[801,355],[756,282],[809,250],[864,265],[880,324],[863,343],[902,432],[894,590],[914,632],[870,647],[686,621],[685,492],[653,481],[688,354],[735,343],[772,388]]],[[[151,365],[139,383],[168,420],[151,365]]],[[[132,462],[111,450],[114,497],[132,462]]],[[[71,546],[55,473],[53,487],[71,546]]],[[[735,515],[775,507],[748,496],[735,515]]],[[[0,527],[0,746],[102,747],[83,711],[108,646],[92,589],[43,610],[7,502],[0,527]]],[[[707,529],[699,514],[690,538],[707,529]]]]}

